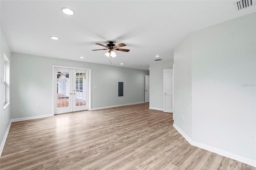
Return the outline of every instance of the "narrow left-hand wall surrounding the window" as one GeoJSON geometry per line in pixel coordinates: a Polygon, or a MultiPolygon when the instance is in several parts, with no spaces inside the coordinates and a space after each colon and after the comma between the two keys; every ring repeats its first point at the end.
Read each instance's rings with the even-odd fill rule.
{"type": "MultiPolygon", "coordinates": [[[[9,46],[7,44],[6,38],[4,36],[4,32],[2,30],[2,27],[0,27],[0,77],[1,79],[4,79],[4,54],[9,60],[9,63],[11,63],[11,52],[9,49],[9,46]]],[[[2,148],[2,141],[4,139],[4,134],[6,132],[6,129],[8,127],[8,124],[10,123],[10,105],[6,107],[4,110],[4,83],[0,84],[0,143],[2,148]]],[[[1,153],[0,153],[1,154],[1,153]]]]}

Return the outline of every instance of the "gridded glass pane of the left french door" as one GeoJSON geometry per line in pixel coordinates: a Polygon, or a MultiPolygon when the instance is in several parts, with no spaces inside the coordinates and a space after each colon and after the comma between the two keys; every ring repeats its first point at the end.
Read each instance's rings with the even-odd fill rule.
{"type": "Polygon", "coordinates": [[[69,106],[69,72],[57,72],[57,109],[69,106]]]}

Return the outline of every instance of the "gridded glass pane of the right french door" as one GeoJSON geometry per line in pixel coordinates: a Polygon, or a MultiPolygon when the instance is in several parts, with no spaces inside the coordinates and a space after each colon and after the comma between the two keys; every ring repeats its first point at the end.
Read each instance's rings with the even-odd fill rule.
{"type": "Polygon", "coordinates": [[[86,73],[76,73],[76,107],[86,105],[86,73]]]}

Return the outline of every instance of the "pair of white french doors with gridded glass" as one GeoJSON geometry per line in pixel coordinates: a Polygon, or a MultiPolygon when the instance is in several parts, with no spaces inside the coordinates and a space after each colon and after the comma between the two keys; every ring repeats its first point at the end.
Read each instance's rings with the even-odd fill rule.
{"type": "Polygon", "coordinates": [[[88,70],[54,67],[54,114],[88,109],[88,70]]]}

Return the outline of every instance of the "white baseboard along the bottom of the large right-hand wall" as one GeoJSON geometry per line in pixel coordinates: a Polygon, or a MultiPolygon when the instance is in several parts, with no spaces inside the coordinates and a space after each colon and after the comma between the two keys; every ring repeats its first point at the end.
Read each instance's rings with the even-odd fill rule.
{"type": "Polygon", "coordinates": [[[230,152],[226,152],[224,150],[220,150],[218,148],[214,148],[212,146],[208,146],[206,144],[202,144],[202,143],[198,143],[198,142],[194,142],[190,137],[188,137],[177,125],[173,124],[173,127],[176,128],[176,130],[178,132],[180,132],[180,134],[193,146],[196,146],[198,148],[202,148],[202,149],[205,149],[205,150],[208,150],[210,152],[214,152],[216,154],[220,154],[222,156],[226,156],[228,158],[231,158],[231,159],[234,159],[234,160],[237,160],[239,162],[243,162],[245,164],[248,164],[250,166],[254,166],[256,167],[256,161],[255,160],[251,160],[251,159],[248,159],[248,158],[244,158],[242,156],[238,156],[236,154],[232,154],[230,152]]]}

